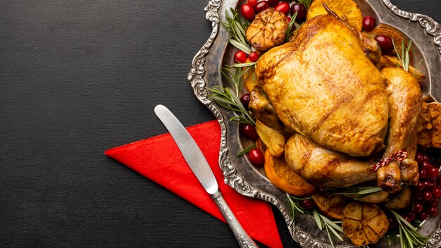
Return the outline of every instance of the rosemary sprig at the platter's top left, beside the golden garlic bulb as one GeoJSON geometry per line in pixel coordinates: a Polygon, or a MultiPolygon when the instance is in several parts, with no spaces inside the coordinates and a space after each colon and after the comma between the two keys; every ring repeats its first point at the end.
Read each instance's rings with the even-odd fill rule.
{"type": "Polygon", "coordinates": [[[228,11],[225,10],[226,23],[221,22],[225,30],[230,34],[228,42],[235,46],[237,49],[244,51],[245,53],[251,53],[251,47],[249,46],[247,39],[245,38],[245,30],[249,23],[240,18],[240,15],[235,9],[230,8],[232,16],[228,15],[228,11]]]}

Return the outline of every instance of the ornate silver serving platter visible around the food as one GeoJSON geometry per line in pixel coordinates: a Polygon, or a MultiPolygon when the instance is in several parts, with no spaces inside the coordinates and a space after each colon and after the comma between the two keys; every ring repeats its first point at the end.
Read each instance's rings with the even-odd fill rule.
{"type": "MultiPolygon", "coordinates": [[[[406,34],[412,40],[414,61],[421,61],[420,70],[426,74],[423,84],[423,98],[426,101],[441,101],[441,27],[432,18],[417,13],[399,10],[389,0],[355,0],[364,16],[375,16],[378,23],[385,23],[406,34]]],[[[204,9],[206,18],[211,21],[213,30],[207,42],[194,56],[192,69],[188,74],[194,94],[213,114],[221,125],[221,151],[219,165],[223,170],[225,183],[240,194],[247,197],[262,199],[278,207],[285,218],[292,238],[302,247],[331,247],[325,231],[318,230],[312,216],[302,215],[294,223],[285,192],[278,190],[259,171],[247,156],[236,156],[237,152],[247,147],[242,140],[237,123],[229,119],[234,116],[232,111],[223,109],[207,98],[205,87],[215,85],[228,86],[220,73],[222,66],[232,63],[235,48],[228,45],[228,32],[221,27],[219,20],[225,22],[225,10],[237,8],[244,1],[211,0],[204,9]]],[[[441,204],[438,206],[441,213],[441,204]]],[[[419,233],[430,237],[425,247],[441,247],[441,214],[428,218],[419,233]]],[[[337,240],[336,247],[354,247],[347,238],[343,242],[337,240]]],[[[383,237],[377,244],[370,247],[389,247],[383,237]]],[[[392,247],[399,247],[399,244],[392,247]]]]}

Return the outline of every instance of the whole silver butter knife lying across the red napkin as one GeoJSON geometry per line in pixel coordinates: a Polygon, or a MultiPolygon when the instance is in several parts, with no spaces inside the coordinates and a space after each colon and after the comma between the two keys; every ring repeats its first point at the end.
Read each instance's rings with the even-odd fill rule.
{"type": "Polygon", "coordinates": [[[190,133],[187,132],[178,118],[176,118],[166,106],[157,105],[154,111],[156,116],[158,116],[166,126],[168,132],[170,132],[173,140],[178,144],[185,161],[187,161],[194,175],[196,175],[199,182],[201,182],[206,192],[210,194],[213,201],[216,202],[216,205],[221,210],[225,221],[227,221],[228,226],[230,226],[240,247],[257,247],[256,243],[254,243],[251,237],[245,232],[223,199],[219,191],[218,182],[216,182],[216,178],[214,178],[213,171],[211,171],[209,163],[206,161],[204,154],[202,154],[201,149],[199,149],[196,142],[194,142],[190,133]]]}

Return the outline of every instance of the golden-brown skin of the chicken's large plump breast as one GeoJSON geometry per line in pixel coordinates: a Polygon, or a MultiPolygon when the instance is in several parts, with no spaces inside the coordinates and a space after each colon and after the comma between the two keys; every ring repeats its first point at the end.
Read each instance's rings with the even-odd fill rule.
{"type": "Polygon", "coordinates": [[[317,16],[292,42],[263,54],[256,75],[287,128],[351,156],[384,148],[385,80],[335,16],[317,16]]]}

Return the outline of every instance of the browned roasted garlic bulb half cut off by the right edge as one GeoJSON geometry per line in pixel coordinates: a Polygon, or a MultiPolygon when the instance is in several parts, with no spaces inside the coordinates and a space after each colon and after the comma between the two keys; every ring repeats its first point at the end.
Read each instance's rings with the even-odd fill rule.
{"type": "Polygon", "coordinates": [[[441,103],[423,102],[416,130],[419,146],[441,148],[441,103]]]}

